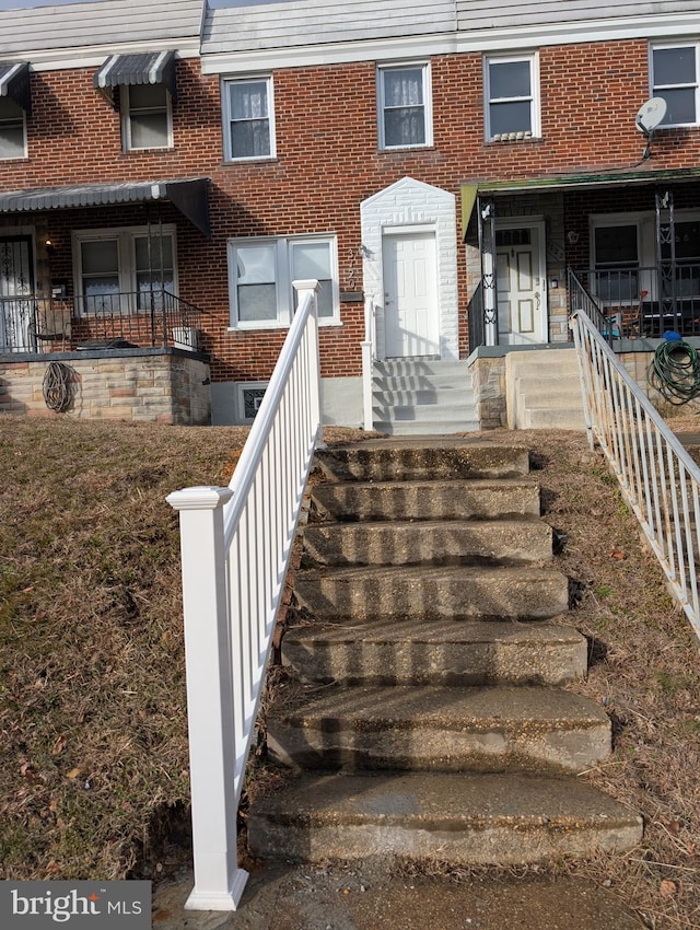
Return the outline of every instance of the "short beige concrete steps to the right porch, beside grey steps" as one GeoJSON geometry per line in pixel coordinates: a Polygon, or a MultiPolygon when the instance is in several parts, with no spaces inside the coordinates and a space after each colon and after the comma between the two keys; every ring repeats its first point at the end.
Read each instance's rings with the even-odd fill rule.
{"type": "Polygon", "coordinates": [[[585,429],[575,349],[509,352],[505,383],[509,429],[585,429]]]}

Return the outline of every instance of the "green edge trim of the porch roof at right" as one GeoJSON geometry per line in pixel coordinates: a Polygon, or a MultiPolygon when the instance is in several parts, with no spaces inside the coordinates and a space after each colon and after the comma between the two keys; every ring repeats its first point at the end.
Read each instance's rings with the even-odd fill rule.
{"type": "Polygon", "coordinates": [[[479,181],[462,185],[462,229],[467,236],[469,221],[479,197],[533,194],[564,190],[603,190],[643,185],[684,184],[700,181],[700,167],[658,171],[653,166],[641,170],[602,171],[580,174],[525,177],[515,181],[479,181]]]}

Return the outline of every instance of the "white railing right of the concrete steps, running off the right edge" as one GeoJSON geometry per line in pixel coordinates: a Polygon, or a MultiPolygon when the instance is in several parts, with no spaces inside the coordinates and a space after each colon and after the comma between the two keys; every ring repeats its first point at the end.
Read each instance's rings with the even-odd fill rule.
{"type": "Polygon", "coordinates": [[[587,300],[578,291],[571,326],[588,442],[599,443],[700,637],[700,469],[593,324],[587,300]]]}

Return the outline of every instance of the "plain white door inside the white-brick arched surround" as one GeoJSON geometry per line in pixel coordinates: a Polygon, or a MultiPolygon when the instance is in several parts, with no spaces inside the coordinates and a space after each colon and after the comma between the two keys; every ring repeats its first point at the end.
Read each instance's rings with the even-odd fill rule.
{"type": "Polygon", "coordinates": [[[435,233],[385,234],[382,257],[386,357],[440,356],[435,233]]]}

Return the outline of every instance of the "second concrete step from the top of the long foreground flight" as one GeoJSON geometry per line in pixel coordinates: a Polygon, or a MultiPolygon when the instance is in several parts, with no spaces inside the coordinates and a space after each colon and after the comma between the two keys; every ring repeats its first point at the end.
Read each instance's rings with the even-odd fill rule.
{"type": "Polygon", "coordinates": [[[489,520],[539,516],[530,480],[348,481],[312,492],[315,520],[489,520]]]}

